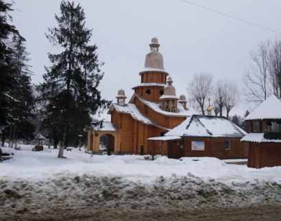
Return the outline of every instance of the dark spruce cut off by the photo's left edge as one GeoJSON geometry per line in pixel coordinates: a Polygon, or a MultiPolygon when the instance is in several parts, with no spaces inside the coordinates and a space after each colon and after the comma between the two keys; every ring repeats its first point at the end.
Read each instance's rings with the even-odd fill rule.
{"type": "Polygon", "coordinates": [[[16,54],[14,43],[22,45],[25,41],[16,27],[8,23],[12,21],[12,16],[8,14],[13,11],[11,7],[11,3],[0,0],[0,133],[2,141],[9,134],[10,124],[18,120],[13,115],[14,106],[19,103],[14,93],[20,88],[16,74],[17,67],[13,60],[16,54]]]}

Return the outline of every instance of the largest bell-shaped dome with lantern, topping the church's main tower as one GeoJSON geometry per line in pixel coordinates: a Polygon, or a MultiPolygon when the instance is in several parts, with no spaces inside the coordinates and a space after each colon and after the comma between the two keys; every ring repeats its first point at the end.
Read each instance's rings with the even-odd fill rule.
{"type": "Polygon", "coordinates": [[[149,47],[151,52],[145,57],[145,68],[160,69],[164,71],[163,56],[159,52],[160,45],[158,44],[158,39],[152,38],[149,47]]]}

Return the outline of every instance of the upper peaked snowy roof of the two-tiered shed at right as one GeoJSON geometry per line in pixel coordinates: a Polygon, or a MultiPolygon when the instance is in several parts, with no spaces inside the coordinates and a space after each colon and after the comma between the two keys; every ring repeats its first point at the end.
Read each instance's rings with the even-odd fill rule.
{"type": "Polygon", "coordinates": [[[281,100],[276,95],[270,95],[252,111],[245,120],[281,119],[281,100]]]}

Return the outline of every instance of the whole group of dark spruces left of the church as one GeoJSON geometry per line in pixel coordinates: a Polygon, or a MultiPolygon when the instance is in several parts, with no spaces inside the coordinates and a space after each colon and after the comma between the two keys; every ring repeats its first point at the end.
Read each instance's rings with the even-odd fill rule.
{"type": "MultiPolygon", "coordinates": [[[[89,45],[93,30],[85,26],[80,4],[60,3],[55,15],[57,27],[45,34],[60,54],[48,54],[51,67],[45,67],[44,82],[32,86],[28,53],[23,38],[11,25],[12,4],[0,0],[0,132],[2,146],[17,139],[33,139],[34,117],[47,138],[63,157],[64,147],[77,142],[86,125],[91,128],[93,115],[108,108],[110,101],[101,98],[97,87],[101,72],[97,45],[89,45]]],[[[95,127],[102,121],[95,122],[95,127]]],[[[92,126],[93,127],[93,126],[92,126]]],[[[12,147],[12,144],[11,144],[12,147]]]]}

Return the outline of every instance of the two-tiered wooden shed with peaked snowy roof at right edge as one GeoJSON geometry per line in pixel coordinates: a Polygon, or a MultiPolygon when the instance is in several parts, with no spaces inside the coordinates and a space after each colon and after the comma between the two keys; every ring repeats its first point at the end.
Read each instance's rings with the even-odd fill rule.
{"type": "Polygon", "coordinates": [[[248,167],[262,168],[281,165],[281,100],[267,97],[245,120],[249,134],[241,141],[249,142],[248,167]]]}

